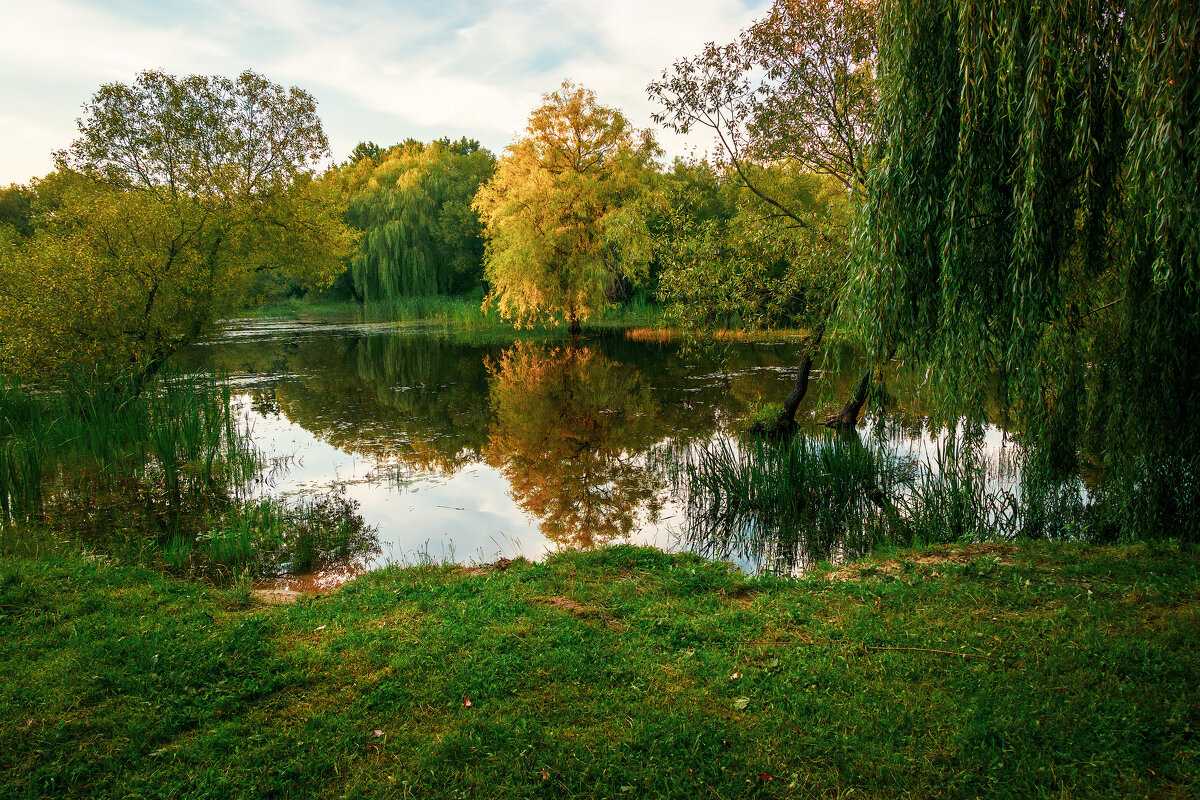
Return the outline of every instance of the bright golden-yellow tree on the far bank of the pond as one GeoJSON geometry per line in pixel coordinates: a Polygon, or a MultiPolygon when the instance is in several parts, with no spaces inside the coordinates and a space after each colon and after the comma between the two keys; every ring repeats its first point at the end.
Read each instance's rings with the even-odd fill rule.
{"type": "Polygon", "coordinates": [[[520,324],[562,314],[577,333],[616,281],[644,275],[646,261],[617,246],[618,211],[652,180],[659,149],[590,90],[564,82],[542,100],[475,198],[484,273],[502,315],[520,324]]]}

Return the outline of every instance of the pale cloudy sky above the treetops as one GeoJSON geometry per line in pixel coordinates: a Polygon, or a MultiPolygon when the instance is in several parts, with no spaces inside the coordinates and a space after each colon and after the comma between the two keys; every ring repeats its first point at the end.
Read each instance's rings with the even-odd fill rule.
{"type": "MultiPolygon", "coordinates": [[[[655,127],[646,85],[769,0],[4,0],[0,185],[53,169],[82,106],[143,70],[253,70],[312,94],[332,156],[359,142],[467,136],[499,155],[570,79],[655,127]]],[[[704,137],[658,131],[668,156],[704,137]]]]}

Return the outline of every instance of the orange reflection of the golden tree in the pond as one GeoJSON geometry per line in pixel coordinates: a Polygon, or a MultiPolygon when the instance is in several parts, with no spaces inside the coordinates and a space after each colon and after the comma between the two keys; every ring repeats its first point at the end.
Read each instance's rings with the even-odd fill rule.
{"type": "Polygon", "coordinates": [[[628,536],[661,509],[646,465],[659,405],[636,368],[587,347],[518,342],[488,360],[494,415],[484,456],[559,545],[628,536]]]}

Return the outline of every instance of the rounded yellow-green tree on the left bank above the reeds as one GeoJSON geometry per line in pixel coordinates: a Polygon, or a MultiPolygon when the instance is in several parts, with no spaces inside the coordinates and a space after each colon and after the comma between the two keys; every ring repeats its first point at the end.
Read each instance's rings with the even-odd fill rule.
{"type": "Polygon", "coordinates": [[[253,72],[106,84],[56,154],[55,209],[0,255],[0,360],[146,377],[246,297],[256,275],[311,284],[353,233],[311,180],[328,155],[312,97],[253,72]]]}

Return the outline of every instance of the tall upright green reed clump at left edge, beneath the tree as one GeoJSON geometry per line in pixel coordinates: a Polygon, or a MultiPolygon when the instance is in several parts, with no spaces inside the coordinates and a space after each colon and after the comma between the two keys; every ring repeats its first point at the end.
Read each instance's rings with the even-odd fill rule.
{"type": "Polygon", "coordinates": [[[84,374],[0,391],[0,525],[175,529],[185,511],[240,494],[259,467],[229,387],[211,377],[84,374]]]}

